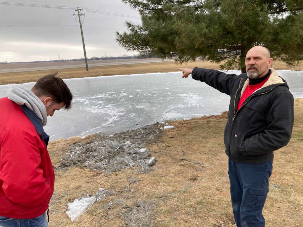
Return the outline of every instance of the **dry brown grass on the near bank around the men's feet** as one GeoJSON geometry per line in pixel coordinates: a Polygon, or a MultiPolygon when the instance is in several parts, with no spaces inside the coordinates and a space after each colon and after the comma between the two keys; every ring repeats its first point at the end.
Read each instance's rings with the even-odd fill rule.
{"type": "MultiPolygon", "coordinates": [[[[270,178],[268,199],[264,208],[267,227],[303,226],[303,99],[295,100],[295,124],[290,143],[275,152],[274,169],[270,178]]],[[[157,157],[154,171],[134,176],[134,168],[107,175],[86,168],[72,167],[56,170],[54,198],[51,200],[52,226],[127,226],[123,220],[123,208],[110,201],[123,199],[124,205],[135,208],[137,200],[155,201],[154,226],[235,226],[229,195],[228,159],[224,152],[223,131],[226,113],[170,122],[175,129],[168,130],[159,143],[149,144],[152,156],[157,157]],[[185,124],[184,126],[182,124],[185,124]],[[186,161],[189,160],[189,161],[186,161]],[[201,162],[195,164],[191,160],[201,162]],[[141,181],[129,184],[128,176],[141,181]],[[65,211],[67,202],[95,194],[102,187],[118,192],[95,204],[75,222],[65,211]],[[122,193],[123,189],[126,192],[122,193]],[[135,189],[132,193],[131,189],[135,189]],[[113,219],[109,219],[113,216],[113,219]]],[[[59,154],[69,144],[87,141],[73,138],[50,143],[49,153],[54,165],[59,154]]]]}

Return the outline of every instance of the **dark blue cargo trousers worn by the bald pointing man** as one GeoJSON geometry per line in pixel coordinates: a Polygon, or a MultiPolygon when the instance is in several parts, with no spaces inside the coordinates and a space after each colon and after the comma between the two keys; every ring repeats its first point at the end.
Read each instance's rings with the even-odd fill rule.
{"type": "Polygon", "coordinates": [[[264,227],[262,209],[273,160],[248,164],[228,160],[231,205],[237,227],[264,227]]]}

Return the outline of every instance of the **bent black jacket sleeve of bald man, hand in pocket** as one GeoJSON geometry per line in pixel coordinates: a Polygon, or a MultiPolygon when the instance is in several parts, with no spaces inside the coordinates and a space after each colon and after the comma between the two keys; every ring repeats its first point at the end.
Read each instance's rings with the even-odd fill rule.
{"type": "Polygon", "coordinates": [[[245,139],[240,145],[243,156],[260,155],[287,145],[294,124],[292,94],[285,90],[278,92],[267,115],[268,127],[263,132],[245,139]]]}

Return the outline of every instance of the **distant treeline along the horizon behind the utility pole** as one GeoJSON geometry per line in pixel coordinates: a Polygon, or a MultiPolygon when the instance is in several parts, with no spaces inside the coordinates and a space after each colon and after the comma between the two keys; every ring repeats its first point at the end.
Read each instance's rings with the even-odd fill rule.
{"type": "MultiPolygon", "coordinates": [[[[151,55],[122,55],[118,57],[112,57],[112,56],[106,56],[106,57],[92,57],[88,58],[87,61],[92,61],[92,60],[113,60],[113,59],[129,59],[129,58],[136,58],[136,59],[142,59],[142,58],[158,58],[158,56],[151,56],[151,55]]],[[[61,59],[61,60],[49,60],[49,61],[18,61],[18,62],[7,62],[7,61],[1,61],[0,64],[9,64],[9,63],[37,63],[37,62],[62,62],[62,61],[85,61],[85,58],[73,58],[73,59],[61,59]]]]}

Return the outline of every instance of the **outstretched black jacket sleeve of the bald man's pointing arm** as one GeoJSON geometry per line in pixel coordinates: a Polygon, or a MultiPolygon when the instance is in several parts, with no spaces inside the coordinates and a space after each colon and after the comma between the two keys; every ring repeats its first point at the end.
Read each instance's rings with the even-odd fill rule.
{"type": "Polygon", "coordinates": [[[234,86],[238,86],[237,81],[241,78],[235,74],[226,74],[218,70],[198,67],[193,69],[191,77],[194,80],[205,82],[205,84],[229,96],[231,96],[234,86]]]}

